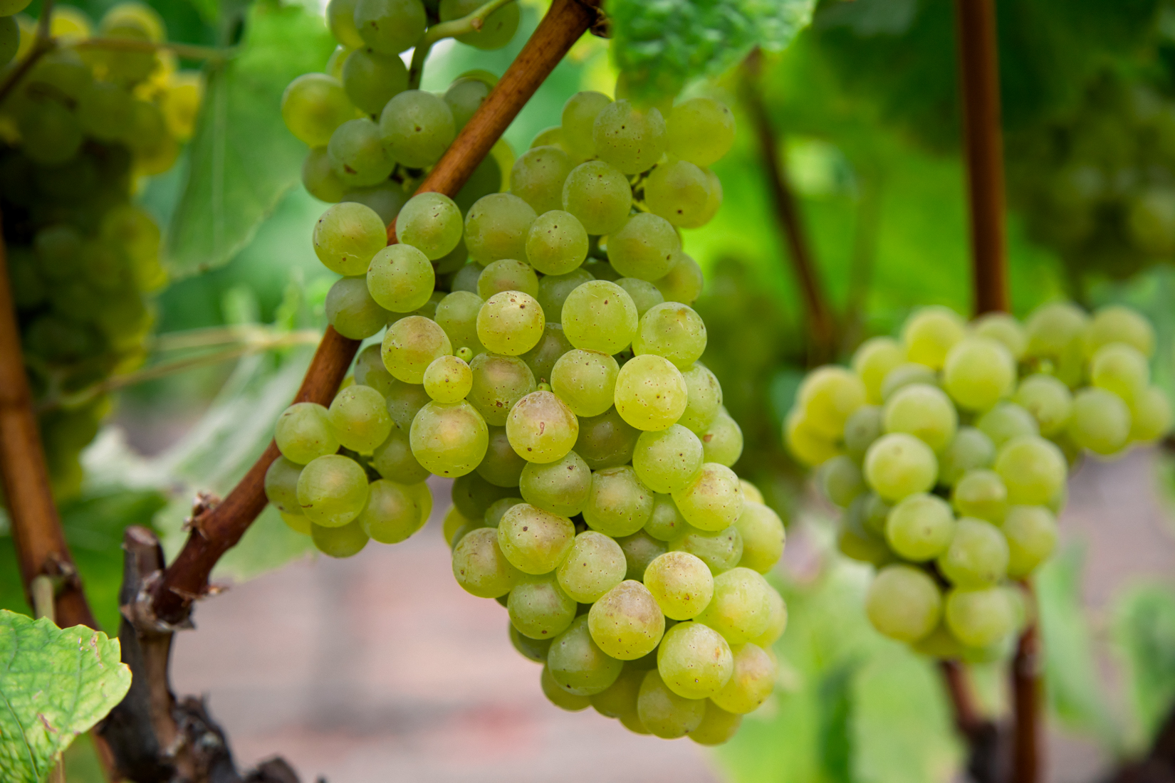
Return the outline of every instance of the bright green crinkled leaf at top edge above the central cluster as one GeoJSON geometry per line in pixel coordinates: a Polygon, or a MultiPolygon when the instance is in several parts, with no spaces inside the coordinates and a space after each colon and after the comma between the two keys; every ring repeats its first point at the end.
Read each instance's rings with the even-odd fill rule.
{"type": "Polygon", "coordinates": [[[786,47],[815,0],[611,0],[612,56],[634,93],[674,95],[759,46],[786,47]]]}

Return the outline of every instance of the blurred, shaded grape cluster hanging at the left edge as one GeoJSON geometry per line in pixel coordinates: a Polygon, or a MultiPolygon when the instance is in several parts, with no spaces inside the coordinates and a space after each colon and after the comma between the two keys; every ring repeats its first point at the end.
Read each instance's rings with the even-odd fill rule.
{"type": "MultiPolygon", "coordinates": [[[[0,4],[0,12],[22,5],[0,4]]],[[[22,60],[34,22],[0,18],[0,31],[13,26],[22,60]]],[[[96,31],[80,11],[56,8],[49,31],[58,46],[0,103],[0,211],[26,369],[60,494],[79,486],[78,454],[109,410],[106,396],[86,391],[143,358],[146,295],[166,275],[160,229],[132,196],[142,177],[175,162],[202,88],[199,74],[177,72],[169,52],[150,48],[166,32],[142,4],[113,6],[96,31]],[[101,46],[121,39],[148,46],[101,46]]],[[[0,60],[13,56],[7,34],[0,60]]]]}

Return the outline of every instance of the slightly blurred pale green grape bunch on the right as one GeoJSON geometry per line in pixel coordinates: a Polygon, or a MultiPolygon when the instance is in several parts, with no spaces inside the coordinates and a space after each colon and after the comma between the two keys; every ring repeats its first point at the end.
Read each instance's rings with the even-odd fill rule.
{"type": "Polygon", "coordinates": [[[1056,542],[1069,465],[1170,428],[1150,385],[1154,330],[1134,310],[1046,304],[1020,324],[925,308],[852,369],[812,371],[785,440],[845,509],[839,546],[873,563],[866,613],[927,655],[995,654],[1056,542]]]}

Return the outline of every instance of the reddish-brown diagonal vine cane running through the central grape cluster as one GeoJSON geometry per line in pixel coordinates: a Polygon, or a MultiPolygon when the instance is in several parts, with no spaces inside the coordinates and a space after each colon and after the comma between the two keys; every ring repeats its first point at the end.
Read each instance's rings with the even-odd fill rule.
{"type": "MultiPolygon", "coordinates": [[[[596,0],[555,0],[551,4],[526,46],[417,188],[417,193],[436,191],[449,196],[457,194],[538,86],[563,60],[571,45],[596,22],[596,14],[590,7],[597,5],[596,0]]],[[[388,228],[388,243],[395,241],[392,223],[388,228]]],[[[358,346],[358,340],[347,339],[328,328],[295,401],[329,404],[358,346]]],[[[187,622],[193,601],[208,589],[208,575],[216,561],[241,540],[246,529],[266,507],[266,471],[276,458],[277,446],[270,443],[233,491],[212,511],[193,520],[183,549],[163,572],[163,578],[153,592],[152,609],[161,623],[182,626],[187,622]]]]}

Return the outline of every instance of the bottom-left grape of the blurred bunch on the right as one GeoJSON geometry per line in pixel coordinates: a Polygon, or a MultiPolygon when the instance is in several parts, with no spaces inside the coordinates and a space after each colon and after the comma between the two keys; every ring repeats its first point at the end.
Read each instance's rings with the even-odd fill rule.
{"type": "Polygon", "coordinates": [[[926,572],[913,566],[886,566],[865,594],[865,614],[881,635],[916,642],[938,626],[942,594],[926,572]]]}

